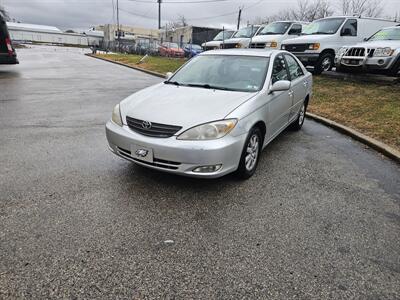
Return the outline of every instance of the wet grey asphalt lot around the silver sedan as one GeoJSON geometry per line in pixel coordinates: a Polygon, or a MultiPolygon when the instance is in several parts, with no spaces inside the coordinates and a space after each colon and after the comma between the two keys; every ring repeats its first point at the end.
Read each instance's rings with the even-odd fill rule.
{"type": "Polygon", "coordinates": [[[83,52],[0,67],[0,298],[400,298],[398,164],[306,120],[248,181],[135,166],[104,124],[161,79],[83,52]]]}

